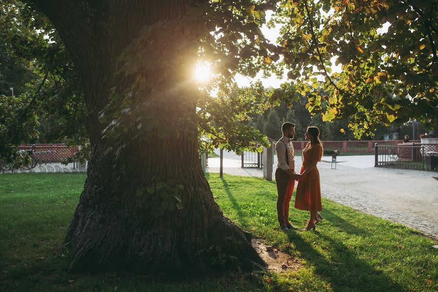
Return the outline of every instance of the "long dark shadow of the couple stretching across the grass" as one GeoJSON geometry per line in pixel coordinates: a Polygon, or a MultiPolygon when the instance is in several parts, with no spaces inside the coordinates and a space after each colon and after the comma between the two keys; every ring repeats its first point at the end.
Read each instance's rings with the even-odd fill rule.
{"type": "Polygon", "coordinates": [[[404,291],[390,277],[376,270],[361,259],[355,249],[349,249],[342,242],[331,237],[317,235],[329,242],[329,259],[306,242],[301,233],[290,233],[289,240],[301,255],[315,267],[315,274],[331,283],[333,291],[404,291]]]}

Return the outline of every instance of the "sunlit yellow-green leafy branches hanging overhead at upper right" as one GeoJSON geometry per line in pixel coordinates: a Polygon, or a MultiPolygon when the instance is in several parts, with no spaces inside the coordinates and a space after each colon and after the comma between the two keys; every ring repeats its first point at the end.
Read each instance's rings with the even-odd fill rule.
{"type": "MultiPolygon", "coordinates": [[[[347,119],[357,138],[382,122],[417,118],[426,126],[436,125],[437,1],[283,0],[263,5],[269,4],[274,4],[268,8],[274,14],[267,26],[280,28],[278,45],[267,43],[257,30],[245,29],[249,25],[236,26],[236,40],[232,21],[218,23],[201,57],[235,58],[228,71],[249,76],[287,68],[290,84],[273,91],[271,102],[290,103],[290,91],[307,96],[310,112],[322,114],[323,121],[347,119]],[[383,24],[388,31],[379,33],[383,24]],[[332,73],[333,65],[341,65],[341,72],[332,73]]],[[[249,11],[253,18],[245,20],[260,25],[265,12],[256,12],[267,8],[263,5],[239,11],[249,11]]]]}

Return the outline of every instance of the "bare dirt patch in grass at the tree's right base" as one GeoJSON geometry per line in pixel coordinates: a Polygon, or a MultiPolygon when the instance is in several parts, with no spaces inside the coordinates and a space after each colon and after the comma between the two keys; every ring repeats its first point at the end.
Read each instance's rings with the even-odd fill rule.
{"type": "Polygon", "coordinates": [[[258,255],[268,264],[267,270],[274,273],[297,271],[302,264],[291,255],[280,252],[278,249],[265,245],[260,238],[251,239],[251,244],[258,255]]]}

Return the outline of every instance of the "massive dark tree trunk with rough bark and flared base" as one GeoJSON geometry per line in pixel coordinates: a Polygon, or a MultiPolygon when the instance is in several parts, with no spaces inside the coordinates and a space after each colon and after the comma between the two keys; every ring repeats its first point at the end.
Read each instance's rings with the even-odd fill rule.
{"type": "MultiPolygon", "coordinates": [[[[164,94],[164,101],[174,108],[181,105],[185,111],[175,113],[177,118],[167,116],[168,122],[161,129],[155,125],[156,129],[141,139],[134,139],[135,132],[130,129],[119,138],[102,138],[105,125],[99,124],[98,114],[109,103],[110,89],[123,95],[138,79],[132,73],[117,74],[121,68],[117,58],[141,36],[142,27],[183,19],[187,11],[193,11],[196,1],[67,2],[37,0],[36,4],[58,28],[72,53],[89,110],[88,177],[65,239],[71,268],[157,272],[263,265],[251,246],[250,235],[223,216],[203,176],[196,125],[190,121],[195,111],[190,103],[193,96],[187,95],[191,92],[187,86],[176,86],[189,83],[183,80],[179,66],[196,58],[196,47],[186,50],[188,55],[174,70],[155,72],[169,76],[159,78],[160,87],[172,88],[172,93],[164,94]],[[175,128],[185,134],[160,134],[175,128]]],[[[169,39],[169,44],[172,41],[169,39]]],[[[178,49],[179,44],[173,46],[178,49]]],[[[169,58],[160,56],[157,49],[157,58],[169,58]]],[[[142,57],[138,55],[139,62],[142,57]]],[[[146,76],[153,78],[153,74],[146,76]]],[[[143,101],[151,99],[151,88],[141,93],[143,101]]]]}

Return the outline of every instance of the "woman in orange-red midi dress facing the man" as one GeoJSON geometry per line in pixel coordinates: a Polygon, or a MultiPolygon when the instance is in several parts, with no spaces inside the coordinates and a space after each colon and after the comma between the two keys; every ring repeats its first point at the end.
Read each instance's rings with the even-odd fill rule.
{"type": "Polygon", "coordinates": [[[321,161],[323,147],[319,141],[319,128],[309,127],[306,131],[306,147],[303,149],[303,165],[301,178],[298,181],[295,196],[295,208],[310,211],[310,219],[304,230],[315,230],[315,225],[322,219],[318,211],[322,211],[321,186],[316,164],[321,161]]]}

